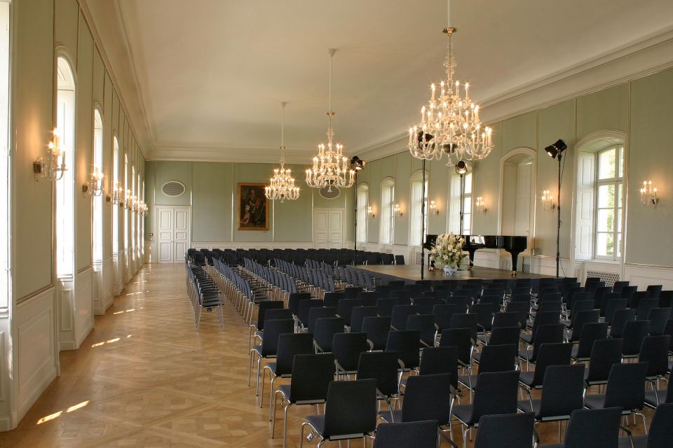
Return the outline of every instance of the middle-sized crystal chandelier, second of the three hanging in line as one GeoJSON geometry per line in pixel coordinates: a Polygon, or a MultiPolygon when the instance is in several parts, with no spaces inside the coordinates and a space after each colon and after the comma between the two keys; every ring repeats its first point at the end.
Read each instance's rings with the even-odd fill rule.
{"type": "Polygon", "coordinates": [[[332,60],[334,48],[329,48],[329,102],[327,116],[327,145],[318,145],[318,155],[313,158],[313,168],[306,169],[306,183],[312,188],[325,188],[331,192],[332,187],[349,188],[355,182],[355,170],[348,168],[348,157],[343,153],[344,145],[334,144],[332,129],[332,60]]]}

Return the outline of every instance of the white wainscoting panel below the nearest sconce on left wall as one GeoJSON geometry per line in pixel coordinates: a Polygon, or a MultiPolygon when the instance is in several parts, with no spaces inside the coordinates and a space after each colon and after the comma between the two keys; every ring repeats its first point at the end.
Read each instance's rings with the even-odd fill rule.
{"type": "Polygon", "coordinates": [[[55,304],[55,288],[49,288],[16,307],[13,358],[16,360],[18,395],[17,411],[14,421],[10,422],[13,426],[25,416],[58,374],[55,304]]]}

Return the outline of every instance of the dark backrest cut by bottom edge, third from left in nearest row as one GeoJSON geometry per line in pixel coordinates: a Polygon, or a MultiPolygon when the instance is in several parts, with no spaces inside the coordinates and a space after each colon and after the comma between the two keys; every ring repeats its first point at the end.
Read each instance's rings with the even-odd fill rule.
{"type": "Polygon", "coordinates": [[[563,448],[615,448],[619,440],[620,407],[577,409],[570,415],[563,448]]]}

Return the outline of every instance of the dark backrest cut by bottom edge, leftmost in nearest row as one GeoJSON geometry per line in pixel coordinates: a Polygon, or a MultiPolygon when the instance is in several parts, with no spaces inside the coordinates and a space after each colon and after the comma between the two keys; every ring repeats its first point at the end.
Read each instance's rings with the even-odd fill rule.
{"type": "Polygon", "coordinates": [[[398,447],[437,448],[437,421],[381,423],[376,427],[374,448],[398,447]]]}

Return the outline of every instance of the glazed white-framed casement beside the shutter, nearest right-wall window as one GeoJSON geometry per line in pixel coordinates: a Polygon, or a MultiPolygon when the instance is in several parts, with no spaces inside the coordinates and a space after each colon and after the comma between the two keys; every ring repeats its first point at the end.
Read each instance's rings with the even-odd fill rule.
{"type": "Polygon", "coordinates": [[[614,146],[597,153],[596,258],[622,256],[622,203],[624,148],[614,146]]]}

